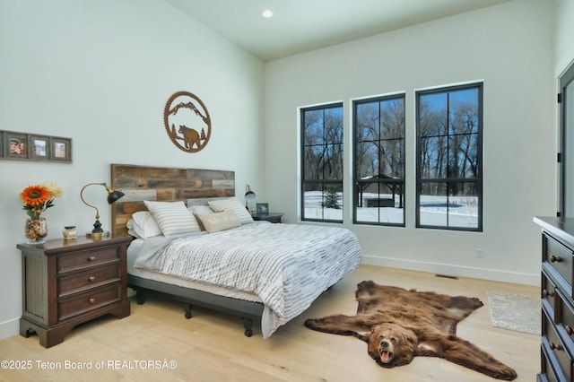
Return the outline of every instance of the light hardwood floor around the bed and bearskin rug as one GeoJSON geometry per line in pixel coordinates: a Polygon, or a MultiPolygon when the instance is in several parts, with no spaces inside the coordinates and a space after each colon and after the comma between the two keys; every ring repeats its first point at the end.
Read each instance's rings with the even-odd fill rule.
{"type": "MultiPolygon", "coordinates": [[[[361,265],[323,293],[300,317],[263,340],[259,326],[243,335],[243,324],[201,308],[183,316],[180,303],[150,298],[132,301],[130,317],[102,317],[77,326],[64,343],[49,349],[35,335],[0,341],[0,360],[24,361],[31,369],[0,369],[1,381],[493,381],[446,360],[417,357],[410,365],[383,369],[354,337],[323,334],[303,326],[309,317],[354,314],[354,291],[362,280],[475,296],[484,307],[465,318],[457,334],[517,370],[517,381],[534,381],[540,369],[540,336],[491,326],[486,291],[539,293],[532,286],[458,280],[361,265]],[[171,364],[172,369],[168,366],[171,364]],[[66,363],[68,362],[68,363],[66,363]],[[69,369],[84,362],[91,369],[69,369]],[[87,363],[85,363],[87,362],[87,363]],[[102,362],[102,363],[101,363],[102,362]],[[100,367],[101,369],[96,369],[100,367]],[[55,369],[49,369],[49,367],[55,369]],[[158,369],[156,369],[156,367],[158,369]],[[66,369],[68,368],[68,369],[66,369]]],[[[14,362],[17,363],[17,362],[14,362]]]]}

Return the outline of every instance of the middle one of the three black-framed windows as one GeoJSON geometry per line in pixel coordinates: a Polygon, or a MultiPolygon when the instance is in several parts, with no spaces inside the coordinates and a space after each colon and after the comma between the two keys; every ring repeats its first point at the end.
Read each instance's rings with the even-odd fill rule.
{"type": "Polygon", "coordinates": [[[355,223],[404,227],[404,95],[353,102],[355,223]]]}

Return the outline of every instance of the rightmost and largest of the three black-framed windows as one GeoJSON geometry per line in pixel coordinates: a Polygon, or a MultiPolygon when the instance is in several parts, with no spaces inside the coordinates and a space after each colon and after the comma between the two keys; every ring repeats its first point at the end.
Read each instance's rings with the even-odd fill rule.
{"type": "Polygon", "coordinates": [[[483,84],[416,93],[416,226],[483,230],[483,84]]]}

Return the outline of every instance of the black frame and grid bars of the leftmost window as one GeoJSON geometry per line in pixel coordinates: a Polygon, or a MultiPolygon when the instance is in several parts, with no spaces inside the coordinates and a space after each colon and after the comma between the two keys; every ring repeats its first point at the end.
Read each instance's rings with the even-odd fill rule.
{"type": "MultiPolygon", "coordinates": [[[[308,108],[300,108],[300,219],[301,221],[318,221],[318,222],[332,222],[332,223],[343,223],[344,221],[344,105],[343,102],[332,102],[326,103],[322,105],[317,105],[308,108]],[[305,170],[305,159],[306,159],[306,141],[305,141],[305,113],[307,111],[316,111],[316,110],[325,110],[327,109],[341,109],[341,142],[336,143],[341,146],[341,160],[342,160],[342,169],[341,169],[341,178],[307,178],[306,177],[306,170],[305,170]],[[318,188],[322,193],[322,202],[321,204],[325,203],[325,195],[328,193],[329,187],[335,187],[336,189],[340,190],[341,193],[341,210],[342,216],[341,220],[338,219],[327,219],[325,217],[325,210],[326,207],[323,205],[321,209],[321,216],[322,218],[317,219],[316,217],[308,217],[305,215],[305,192],[307,187],[318,188]]],[[[329,143],[326,143],[329,144],[329,143]]],[[[335,143],[331,143],[335,144],[335,143]]]]}

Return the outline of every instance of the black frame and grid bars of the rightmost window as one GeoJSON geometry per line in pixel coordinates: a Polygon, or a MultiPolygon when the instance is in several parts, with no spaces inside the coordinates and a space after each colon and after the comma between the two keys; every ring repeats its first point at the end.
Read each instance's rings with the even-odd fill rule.
{"type": "MultiPolygon", "coordinates": [[[[448,104],[448,103],[447,103],[448,104]]],[[[446,86],[441,88],[436,88],[432,90],[424,90],[424,91],[416,91],[415,92],[415,124],[416,124],[416,204],[415,204],[415,227],[416,228],[424,228],[424,229],[436,229],[436,230],[462,230],[462,231],[475,231],[475,232],[482,232],[483,231],[483,82],[473,82],[467,83],[464,85],[453,85],[453,86],[446,86]],[[421,97],[424,95],[429,94],[440,94],[440,93],[450,93],[453,91],[463,91],[469,89],[476,89],[477,90],[477,99],[478,99],[478,108],[477,108],[477,117],[478,117],[478,126],[477,126],[477,149],[476,149],[476,177],[475,178],[450,178],[447,176],[446,178],[422,178],[422,136],[421,136],[421,97]],[[432,225],[432,224],[422,224],[421,223],[421,194],[422,194],[422,184],[423,183],[437,183],[438,186],[440,183],[447,185],[447,200],[449,197],[450,189],[454,184],[462,184],[462,183],[474,183],[476,187],[476,196],[477,196],[477,224],[476,227],[461,227],[461,226],[452,226],[448,224],[448,217],[449,213],[447,213],[447,225],[432,225]]],[[[449,116],[449,110],[447,112],[449,116]]],[[[448,123],[448,122],[447,122],[448,123]]],[[[449,135],[450,129],[447,128],[447,135],[440,135],[440,136],[447,136],[448,138],[451,136],[449,135]]],[[[428,138],[429,136],[426,136],[428,138]]],[[[447,143],[448,144],[448,143],[447,143]]],[[[447,165],[447,174],[448,174],[448,165],[447,165]]],[[[449,202],[447,202],[449,206],[449,202]]]]}

